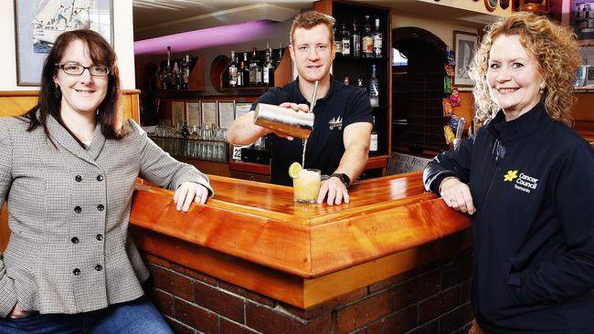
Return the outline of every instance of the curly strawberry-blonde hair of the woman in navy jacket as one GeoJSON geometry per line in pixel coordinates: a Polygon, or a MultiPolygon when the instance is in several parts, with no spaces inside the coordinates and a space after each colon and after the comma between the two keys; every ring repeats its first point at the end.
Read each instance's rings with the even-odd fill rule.
{"type": "Polygon", "coordinates": [[[568,27],[560,26],[546,16],[526,12],[514,13],[485,28],[469,72],[475,83],[472,94],[477,105],[476,116],[486,120],[500,109],[489,94],[486,78],[489,52],[495,38],[512,35],[518,35],[528,55],[536,59],[545,80],[543,97],[551,119],[570,125],[571,107],[575,101],[573,82],[581,64],[576,36],[568,27]]]}

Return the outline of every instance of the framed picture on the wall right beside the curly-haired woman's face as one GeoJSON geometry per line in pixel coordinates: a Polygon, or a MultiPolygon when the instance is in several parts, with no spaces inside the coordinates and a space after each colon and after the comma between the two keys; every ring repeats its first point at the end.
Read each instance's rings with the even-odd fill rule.
{"type": "Polygon", "coordinates": [[[478,46],[479,38],[476,34],[454,30],[454,57],[456,68],[454,70],[454,86],[472,87],[472,79],[468,75],[472,57],[478,46]]]}

